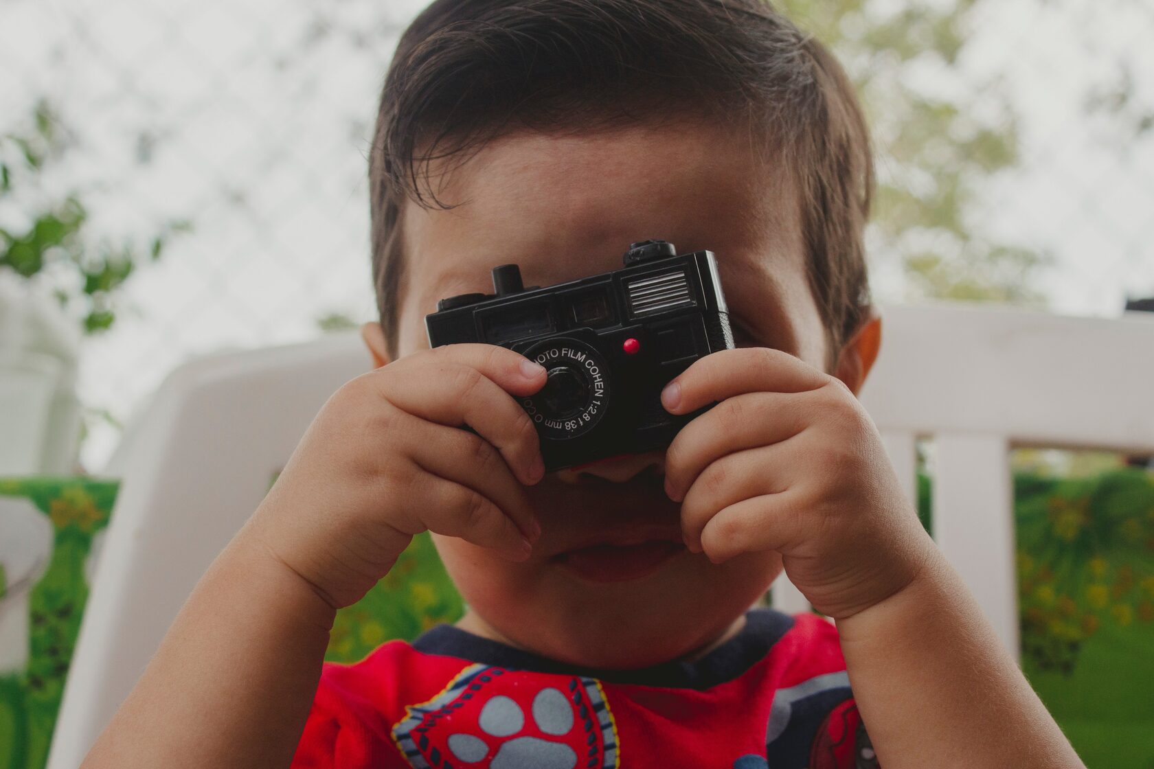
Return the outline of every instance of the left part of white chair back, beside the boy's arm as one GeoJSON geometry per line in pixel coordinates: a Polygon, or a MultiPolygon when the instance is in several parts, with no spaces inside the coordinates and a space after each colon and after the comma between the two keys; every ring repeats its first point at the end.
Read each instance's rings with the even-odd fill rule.
{"type": "Polygon", "coordinates": [[[370,368],[357,334],[187,363],[110,463],[122,483],[48,755],[76,769],[209,564],[263,499],[342,384],[370,368]]]}

